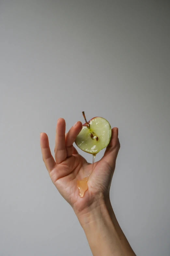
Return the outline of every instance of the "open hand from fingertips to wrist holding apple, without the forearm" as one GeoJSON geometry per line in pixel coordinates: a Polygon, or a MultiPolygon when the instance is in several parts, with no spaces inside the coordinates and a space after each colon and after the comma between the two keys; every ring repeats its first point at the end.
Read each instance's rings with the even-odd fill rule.
{"type": "Polygon", "coordinates": [[[40,134],[42,157],[50,178],[76,213],[88,209],[94,201],[100,198],[109,197],[110,184],[120,149],[118,128],[113,128],[111,141],[106,147],[104,156],[100,161],[94,163],[93,172],[88,179],[88,190],[83,197],[80,197],[77,180],[82,180],[92,171],[92,164],[79,155],[73,147],[81,129],[82,123],[77,122],[65,135],[65,120],[58,119],[54,149],[55,160],[51,155],[47,134],[40,134]]]}

